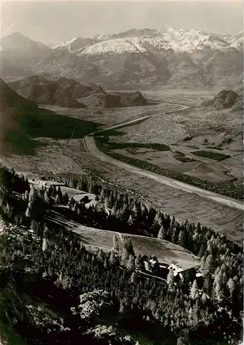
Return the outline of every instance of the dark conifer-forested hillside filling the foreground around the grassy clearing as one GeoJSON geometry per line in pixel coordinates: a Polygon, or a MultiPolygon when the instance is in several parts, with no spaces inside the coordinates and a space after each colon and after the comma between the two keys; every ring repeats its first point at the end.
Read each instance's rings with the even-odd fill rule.
{"type": "Polygon", "coordinates": [[[201,224],[179,224],[99,179],[57,180],[94,193],[96,204],[87,207],[60,187],[34,188],[13,170],[0,170],[6,310],[0,328],[8,344],[238,344],[243,248],[201,224]],[[176,279],[171,271],[160,279],[155,270],[152,277],[144,263],[157,258],[136,255],[130,239],[118,246],[114,238],[112,251],[89,250],[81,236],[48,217],[52,212],[179,244],[201,257],[196,276],[176,279]]]}

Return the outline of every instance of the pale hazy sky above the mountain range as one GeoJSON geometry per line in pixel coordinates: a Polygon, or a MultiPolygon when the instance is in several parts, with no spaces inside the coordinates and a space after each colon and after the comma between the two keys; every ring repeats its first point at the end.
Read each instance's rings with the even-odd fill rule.
{"type": "Polygon", "coordinates": [[[1,1],[1,32],[43,43],[163,27],[233,34],[243,28],[242,1],[1,1]]]}

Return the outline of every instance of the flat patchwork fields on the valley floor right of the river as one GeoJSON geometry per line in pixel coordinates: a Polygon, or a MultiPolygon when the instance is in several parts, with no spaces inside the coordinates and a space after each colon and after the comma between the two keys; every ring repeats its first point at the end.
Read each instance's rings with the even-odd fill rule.
{"type": "MultiPolygon", "coordinates": [[[[187,97],[187,94],[183,96],[187,97]]],[[[199,99],[200,102],[203,101],[202,97],[201,94],[195,95],[193,99],[199,99]]],[[[181,101],[181,97],[179,99],[181,101]]],[[[121,127],[119,130],[123,135],[110,135],[110,141],[119,144],[166,144],[171,152],[153,152],[141,148],[134,152],[126,149],[114,151],[192,177],[212,182],[237,179],[236,184],[241,185],[242,128],[243,115],[240,112],[205,110],[199,106],[121,127]]]]}

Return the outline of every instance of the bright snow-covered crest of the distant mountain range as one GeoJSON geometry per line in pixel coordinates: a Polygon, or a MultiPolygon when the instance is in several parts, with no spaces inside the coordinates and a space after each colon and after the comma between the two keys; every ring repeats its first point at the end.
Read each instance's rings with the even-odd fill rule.
{"type": "Polygon", "coordinates": [[[193,52],[203,49],[224,50],[230,47],[230,43],[214,34],[176,28],[132,29],[118,34],[96,35],[93,40],[96,42],[79,50],[79,55],[146,52],[148,46],[158,52],[169,49],[175,52],[193,52]]]}

